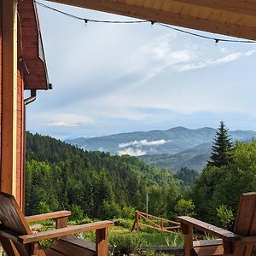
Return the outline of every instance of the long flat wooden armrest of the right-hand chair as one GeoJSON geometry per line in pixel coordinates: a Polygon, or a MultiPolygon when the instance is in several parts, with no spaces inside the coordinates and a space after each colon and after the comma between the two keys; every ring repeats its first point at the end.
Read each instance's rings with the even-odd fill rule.
{"type": "Polygon", "coordinates": [[[206,222],[203,222],[196,218],[191,218],[188,216],[181,216],[181,217],[178,217],[177,219],[182,225],[192,226],[198,230],[205,231],[208,234],[211,234],[213,236],[218,236],[219,238],[222,238],[225,241],[227,241],[227,240],[228,241],[237,241],[237,240],[241,239],[241,236],[238,236],[233,232],[218,228],[212,224],[207,224],[206,222]]]}

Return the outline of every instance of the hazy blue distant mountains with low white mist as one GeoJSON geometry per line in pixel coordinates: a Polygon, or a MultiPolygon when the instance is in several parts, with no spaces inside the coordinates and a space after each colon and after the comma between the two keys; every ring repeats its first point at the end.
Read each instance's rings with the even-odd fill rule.
{"type": "MultiPolygon", "coordinates": [[[[85,150],[138,156],[152,166],[177,171],[181,167],[200,172],[211,154],[216,129],[188,129],[182,126],[166,131],[136,131],[102,137],[79,137],[65,142],[85,150]]],[[[233,142],[256,137],[256,131],[229,131],[233,142]]]]}

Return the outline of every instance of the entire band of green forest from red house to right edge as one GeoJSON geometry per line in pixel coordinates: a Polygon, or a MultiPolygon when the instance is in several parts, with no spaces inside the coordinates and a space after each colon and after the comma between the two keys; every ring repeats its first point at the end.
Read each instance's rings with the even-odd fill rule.
{"type": "Polygon", "coordinates": [[[201,174],[181,168],[175,180],[136,157],[27,133],[26,214],[69,209],[73,218],[132,218],[135,209],[145,210],[148,192],[151,214],[190,215],[231,228],[239,196],[256,190],[256,141],[234,145],[227,135],[223,147],[219,138],[217,132],[201,174]]]}

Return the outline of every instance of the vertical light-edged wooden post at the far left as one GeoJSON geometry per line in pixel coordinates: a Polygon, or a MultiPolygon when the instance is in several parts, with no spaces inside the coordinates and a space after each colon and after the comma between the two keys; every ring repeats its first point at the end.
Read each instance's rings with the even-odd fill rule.
{"type": "Polygon", "coordinates": [[[3,107],[1,190],[16,196],[17,1],[3,0],[3,107]]]}

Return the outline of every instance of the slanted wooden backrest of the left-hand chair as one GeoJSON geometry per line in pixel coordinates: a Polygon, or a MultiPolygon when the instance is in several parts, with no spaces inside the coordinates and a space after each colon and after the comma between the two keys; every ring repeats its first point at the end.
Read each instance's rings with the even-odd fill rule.
{"type": "Polygon", "coordinates": [[[0,221],[5,229],[18,235],[32,234],[15,197],[3,192],[0,192],[0,221]]]}

